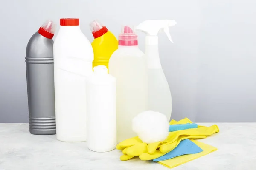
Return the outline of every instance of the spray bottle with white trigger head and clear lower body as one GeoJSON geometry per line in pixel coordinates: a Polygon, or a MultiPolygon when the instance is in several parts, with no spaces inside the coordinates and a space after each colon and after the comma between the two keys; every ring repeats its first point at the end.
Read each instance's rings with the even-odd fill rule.
{"type": "Polygon", "coordinates": [[[136,27],[137,31],[146,33],[145,58],[148,65],[148,109],[165,114],[168,120],[172,114],[172,96],[159,58],[157,34],[163,28],[172,42],[169,27],[175,24],[174,20],[146,20],[136,27]]]}

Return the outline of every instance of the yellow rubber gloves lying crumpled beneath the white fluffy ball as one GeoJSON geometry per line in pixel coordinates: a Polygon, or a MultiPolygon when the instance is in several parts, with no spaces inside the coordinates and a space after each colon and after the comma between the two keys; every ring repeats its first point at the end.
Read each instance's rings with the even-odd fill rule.
{"type": "MultiPolygon", "coordinates": [[[[182,119],[180,121],[172,120],[169,124],[186,124],[192,123],[188,118],[182,119]]],[[[138,136],[126,139],[120,142],[116,149],[122,150],[122,155],[120,159],[126,161],[133,158],[134,156],[140,156],[141,160],[151,160],[159,158],[164,154],[172,151],[181,140],[184,139],[200,139],[206,138],[206,136],[212,135],[213,133],[218,133],[219,129],[217,125],[212,125],[210,127],[198,126],[196,129],[186,129],[174,132],[169,132],[168,137],[162,142],[154,142],[150,144],[143,143],[138,136]]]]}

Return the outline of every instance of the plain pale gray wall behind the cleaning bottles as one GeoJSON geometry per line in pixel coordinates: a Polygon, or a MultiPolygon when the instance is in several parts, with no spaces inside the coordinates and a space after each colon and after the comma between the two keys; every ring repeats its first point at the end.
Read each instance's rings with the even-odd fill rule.
{"type": "MultiPolygon", "coordinates": [[[[173,19],[172,44],[159,34],[172,92],[172,119],[256,122],[256,2],[254,0],[2,0],[0,123],[28,122],[25,51],[44,20],[99,19],[118,36],[121,24],[173,19]],[[254,16],[254,17],[253,17],[254,16]]],[[[57,30],[58,31],[58,30],[57,30]]],[[[144,34],[139,46],[144,51],[144,34]]]]}

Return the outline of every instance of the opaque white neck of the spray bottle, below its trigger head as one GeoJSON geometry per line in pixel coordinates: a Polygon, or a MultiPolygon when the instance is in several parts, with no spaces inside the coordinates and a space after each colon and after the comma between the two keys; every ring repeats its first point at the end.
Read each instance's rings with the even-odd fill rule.
{"type": "Polygon", "coordinates": [[[159,51],[158,51],[158,36],[149,36],[145,38],[145,56],[149,69],[162,68],[159,51]]]}

